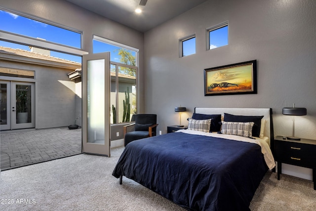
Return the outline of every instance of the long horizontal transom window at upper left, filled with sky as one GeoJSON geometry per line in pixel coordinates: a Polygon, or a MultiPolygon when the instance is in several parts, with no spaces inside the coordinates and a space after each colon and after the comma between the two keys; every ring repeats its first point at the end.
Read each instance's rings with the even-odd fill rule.
{"type": "Polygon", "coordinates": [[[81,33],[0,10],[0,30],[81,48],[81,33]]]}

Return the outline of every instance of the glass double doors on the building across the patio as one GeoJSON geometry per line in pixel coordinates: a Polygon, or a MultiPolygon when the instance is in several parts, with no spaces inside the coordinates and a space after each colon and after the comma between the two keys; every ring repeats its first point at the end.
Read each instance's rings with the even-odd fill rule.
{"type": "Polygon", "coordinates": [[[35,84],[0,81],[1,130],[35,127],[35,84]]]}

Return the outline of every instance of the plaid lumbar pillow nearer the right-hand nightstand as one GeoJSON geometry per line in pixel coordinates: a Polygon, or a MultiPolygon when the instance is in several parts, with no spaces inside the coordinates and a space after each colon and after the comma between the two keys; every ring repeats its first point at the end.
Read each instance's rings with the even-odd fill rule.
{"type": "Polygon", "coordinates": [[[253,125],[254,123],[223,122],[222,133],[249,138],[252,136],[253,125]]]}

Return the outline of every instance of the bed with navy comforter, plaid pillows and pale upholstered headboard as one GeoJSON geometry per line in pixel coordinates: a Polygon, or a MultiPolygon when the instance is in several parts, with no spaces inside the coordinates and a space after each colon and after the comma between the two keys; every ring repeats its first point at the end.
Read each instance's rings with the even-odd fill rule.
{"type": "Polygon", "coordinates": [[[186,210],[246,211],[275,167],[272,141],[272,109],[195,108],[188,129],[127,144],[112,174],[186,210]]]}

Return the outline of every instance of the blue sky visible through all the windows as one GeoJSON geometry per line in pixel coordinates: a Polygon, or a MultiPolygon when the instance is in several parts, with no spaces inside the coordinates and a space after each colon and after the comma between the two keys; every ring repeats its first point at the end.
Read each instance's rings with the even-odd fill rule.
{"type": "MultiPolygon", "coordinates": [[[[0,10],[0,30],[81,48],[81,34],[78,32],[66,30],[47,23],[12,14],[3,10],[0,10]]],[[[209,37],[210,49],[227,45],[228,26],[224,26],[222,28],[211,31],[209,37]]],[[[190,55],[196,53],[196,38],[188,40],[186,43],[183,43],[183,55],[190,55]]],[[[28,45],[21,45],[4,41],[0,41],[0,45],[30,51],[28,45]]],[[[93,53],[110,51],[111,61],[119,62],[120,56],[117,53],[118,51],[116,51],[116,49],[119,48],[120,47],[106,44],[103,42],[93,41],[93,53]]],[[[81,56],[74,56],[56,51],[51,51],[50,55],[81,63],[81,56]]]]}

